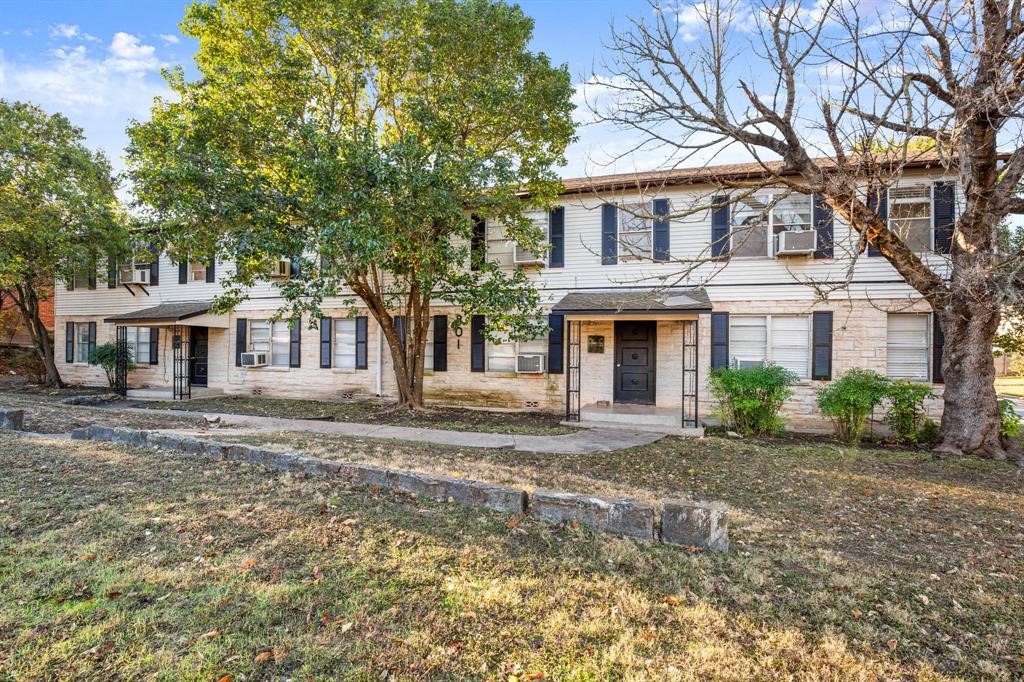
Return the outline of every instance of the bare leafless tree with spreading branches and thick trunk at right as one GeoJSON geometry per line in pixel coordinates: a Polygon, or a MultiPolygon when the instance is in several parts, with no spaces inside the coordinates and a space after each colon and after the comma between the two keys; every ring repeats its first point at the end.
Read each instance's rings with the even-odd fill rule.
{"type": "Polygon", "coordinates": [[[612,103],[595,108],[599,120],[640,133],[675,167],[743,148],[763,172],[723,178],[730,202],[766,187],[823,197],[857,232],[853,262],[876,249],[939,317],[938,450],[1006,458],[991,347],[1024,255],[996,239],[1004,218],[1024,213],[1020,0],[901,0],[870,16],[853,0],[651,7],[613,30],[601,81],[612,103]],[[871,199],[922,147],[963,191],[941,255],[920,253],[871,199]]]}

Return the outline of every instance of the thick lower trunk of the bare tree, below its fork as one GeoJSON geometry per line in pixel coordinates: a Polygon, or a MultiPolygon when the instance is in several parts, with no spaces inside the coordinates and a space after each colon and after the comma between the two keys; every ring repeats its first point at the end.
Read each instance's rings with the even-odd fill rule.
{"type": "Polygon", "coordinates": [[[999,326],[997,306],[952,298],[939,313],[945,345],[942,441],[939,452],[1007,459],[999,436],[992,338],[999,326]]]}

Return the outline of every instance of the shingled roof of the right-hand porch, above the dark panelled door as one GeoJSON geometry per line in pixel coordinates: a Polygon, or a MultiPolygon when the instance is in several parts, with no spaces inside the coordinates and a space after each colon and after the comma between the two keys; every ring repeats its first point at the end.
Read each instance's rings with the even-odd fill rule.
{"type": "Polygon", "coordinates": [[[702,289],[658,291],[573,291],[555,303],[552,312],[567,315],[711,312],[711,299],[702,289]]]}

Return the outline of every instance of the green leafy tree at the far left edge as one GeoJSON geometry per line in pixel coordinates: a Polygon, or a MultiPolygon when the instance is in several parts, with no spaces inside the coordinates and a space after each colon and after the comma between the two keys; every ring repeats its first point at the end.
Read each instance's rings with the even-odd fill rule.
{"type": "Polygon", "coordinates": [[[110,162],[85,146],[80,128],[0,99],[0,292],[20,311],[51,386],[62,382],[39,304],[54,279],[128,252],[116,188],[110,162]]]}

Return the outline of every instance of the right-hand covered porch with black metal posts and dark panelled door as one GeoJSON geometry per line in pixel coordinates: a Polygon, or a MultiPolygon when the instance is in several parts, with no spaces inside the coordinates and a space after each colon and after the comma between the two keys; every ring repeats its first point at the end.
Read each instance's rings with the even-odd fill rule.
{"type": "Polygon", "coordinates": [[[694,289],[571,292],[565,318],[565,420],[676,432],[700,427],[694,289]]]}

